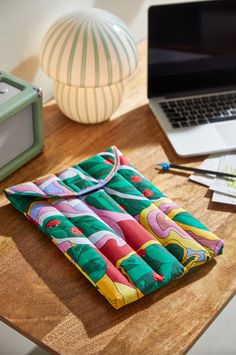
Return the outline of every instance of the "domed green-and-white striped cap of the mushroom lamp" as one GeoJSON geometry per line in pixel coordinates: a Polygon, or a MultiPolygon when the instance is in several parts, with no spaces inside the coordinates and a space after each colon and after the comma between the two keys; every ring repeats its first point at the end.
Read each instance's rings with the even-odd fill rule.
{"type": "Polygon", "coordinates": [[[101,9],[60,18],[46,33],[42,69],[73,86],[108,86],[126,79],[137,65],[137,48],[127,26],[101,9]]]}

